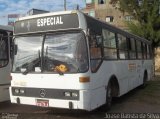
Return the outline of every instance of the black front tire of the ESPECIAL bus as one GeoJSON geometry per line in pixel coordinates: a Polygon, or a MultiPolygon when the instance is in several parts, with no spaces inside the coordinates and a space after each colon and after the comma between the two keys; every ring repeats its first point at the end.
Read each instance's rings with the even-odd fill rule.
{"type": "Polygon", "coordinates": [[[108,83],[107,86],[107,93],[106,93],[106,108],[107,110],[109,110],[111,108],[112,105],[112,86],[111,86],[111,82],[108,83]]]}

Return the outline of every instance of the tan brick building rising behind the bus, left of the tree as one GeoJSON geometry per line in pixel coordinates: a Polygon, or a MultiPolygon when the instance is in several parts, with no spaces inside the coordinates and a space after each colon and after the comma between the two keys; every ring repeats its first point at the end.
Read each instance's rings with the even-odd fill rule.
{"type": "Polygon", "coordinates": [[[83,12],[127,30],[125,21],[130,21],[132,17],[119,11],[118,6],[111,4],[111,1],[112,0],[86,0],[86,8],[83,9],[83,12]]]}

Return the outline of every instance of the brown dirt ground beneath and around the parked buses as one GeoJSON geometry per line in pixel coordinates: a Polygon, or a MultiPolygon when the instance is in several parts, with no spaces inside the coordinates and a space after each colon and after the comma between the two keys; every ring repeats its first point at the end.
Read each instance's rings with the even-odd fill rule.
{"type": "MultiPolygon", "coordinates": [[[[85,112],[15,105],[10,102],[0,103],[0,119],[109,119],[108,115],[136,113],[145,115],[159,113],[158,117],[152,115],[147,118],[160,118],[160,76],[156,76],[152,81],[147,82],[144,89],[138,87],[126,95],[114,99],[109,111],[98,108],[92,112],[85,112]]],[[[124,118],[128,119],[128,117],[124,118]]]]}

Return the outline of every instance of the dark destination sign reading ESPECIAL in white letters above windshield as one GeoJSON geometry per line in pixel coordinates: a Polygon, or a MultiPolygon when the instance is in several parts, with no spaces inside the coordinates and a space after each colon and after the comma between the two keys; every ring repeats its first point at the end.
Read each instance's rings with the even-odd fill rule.
{"type": "Polygon", "coordinates": [[[15,22],[14,34],[38,33],[71,28],[79,28],[77,14],[46,16],[17,21],[15,22]]]}

